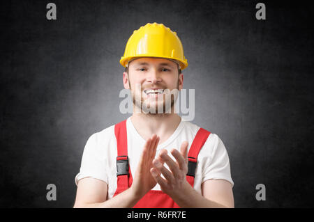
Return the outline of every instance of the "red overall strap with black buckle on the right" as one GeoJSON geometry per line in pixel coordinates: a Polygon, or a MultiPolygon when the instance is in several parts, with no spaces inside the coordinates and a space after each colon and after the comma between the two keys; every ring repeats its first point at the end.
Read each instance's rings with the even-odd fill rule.
{"type": "MultiPolygon", "coordinates": [[[[209,132],[203,128],[200,128],[197,131],[197,134],[196,134],[195,138],[193,139],[193,143],[190,146],[190,150],[188,151],[188,161],[190,162],[190,164],[189,164],[190,166],[195,165],[195,168],[196,168],[197,156],[198,156],[200,150],[202,149],[202,146],[207,141],[209,134],[211,134],[211,132],[209,132]]],[[[193,174],[194,175],[186,175],[186,180],[188,181],[188,183],[192,187],[194,186],[195,172],[193,172],[193,174]]]]}

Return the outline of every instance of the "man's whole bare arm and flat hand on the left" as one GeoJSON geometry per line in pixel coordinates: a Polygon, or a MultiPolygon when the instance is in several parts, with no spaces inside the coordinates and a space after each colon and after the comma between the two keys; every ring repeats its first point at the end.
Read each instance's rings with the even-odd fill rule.
{"type": "MultiPolygon", "coordinates": [[[[86,177],[77,185],[77,196],[74,207],[133,207],[151,189],[156,181],[151,176],[150,169],[156,155],[159,137],[153,134],[143,148],[140,163],[137,166],[135,178],[130,189],[119,193],[107,200],[107,183],[101,180],[86,177]]],[[[162,159],[160,160],[163,163],[162,159]]]]}

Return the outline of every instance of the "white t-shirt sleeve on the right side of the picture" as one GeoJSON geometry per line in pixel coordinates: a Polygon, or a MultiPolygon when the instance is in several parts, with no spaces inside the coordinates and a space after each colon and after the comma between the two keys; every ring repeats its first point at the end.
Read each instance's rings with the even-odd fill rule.
{"type": "Polygon", "coordinates": [[[211,155],[209,158],[206,158],[204,163],[202,182],[210,179],[223,179],[229,181],[233,187],[234,182],[230,173],[230,161],[223,141],[216,134],[211,134],[204,145],[208,145],[211,148],[211,155]]]}

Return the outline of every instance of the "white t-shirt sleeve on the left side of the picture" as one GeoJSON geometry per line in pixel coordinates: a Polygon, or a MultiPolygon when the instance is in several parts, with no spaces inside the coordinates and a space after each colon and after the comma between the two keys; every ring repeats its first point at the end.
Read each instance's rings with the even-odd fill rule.
{"type": "Polygon", "coordinates": [[[87,140],[84,148],[80,173],[75,177],[75,184],[84,177],[93,177],[108,183],[105,172],[105,159],[103,159],[98,148],[97,133],[93,134],[87,140]]]}

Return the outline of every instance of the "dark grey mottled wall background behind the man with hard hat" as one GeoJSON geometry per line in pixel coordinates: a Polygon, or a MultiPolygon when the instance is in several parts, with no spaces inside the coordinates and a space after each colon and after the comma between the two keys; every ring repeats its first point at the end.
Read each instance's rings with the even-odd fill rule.
{"type": "Polygon", "coordinates": [[[181,38],[193,122],[225,143],[235,207],[314,206],[312,6],[262,1],[258,21],[258,1],[52,1],[48,21],[49,2],[0,3],[0,207],[73,207],[87,139],[129,116],[119,59],[148,22],[181,38]]]}

